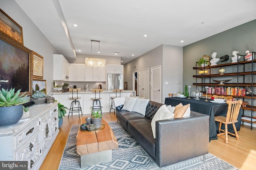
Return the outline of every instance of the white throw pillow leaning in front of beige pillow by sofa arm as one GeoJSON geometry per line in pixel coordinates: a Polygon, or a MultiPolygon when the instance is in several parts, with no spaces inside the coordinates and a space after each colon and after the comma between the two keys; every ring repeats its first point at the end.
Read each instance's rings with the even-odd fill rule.
{"type": "MultiPolygon", "coordinates": [[[[172,109],[173,110],[173,109],[172,109]]],[[[156,121],[158,120],[164,120],[164,119],[171,119],[174,117],[174,113],[170,112],[167,106],[164,104],[162,105],[154,115],[152,121],[151,121],[151,128],[153,132],[153,137],[156,139],[156,121]]]]}

